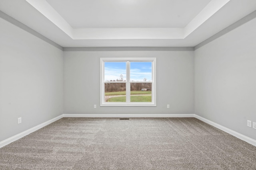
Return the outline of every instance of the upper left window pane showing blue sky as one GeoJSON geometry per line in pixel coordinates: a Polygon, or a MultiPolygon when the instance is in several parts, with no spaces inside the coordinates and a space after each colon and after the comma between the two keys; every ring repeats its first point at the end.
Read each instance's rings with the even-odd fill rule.
{"type": "Polygon", "coordinates": [[[126,81],[126,62],[105,62],[104,81],[126,81]]]}

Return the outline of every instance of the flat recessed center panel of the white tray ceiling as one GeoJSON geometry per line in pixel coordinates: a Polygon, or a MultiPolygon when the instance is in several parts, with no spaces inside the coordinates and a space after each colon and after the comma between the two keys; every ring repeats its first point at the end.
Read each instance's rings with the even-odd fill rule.
{"type": "Polygon", "coordinates": [[[185,27],[211,0],[46,0],[73,28],[185,27]]]}

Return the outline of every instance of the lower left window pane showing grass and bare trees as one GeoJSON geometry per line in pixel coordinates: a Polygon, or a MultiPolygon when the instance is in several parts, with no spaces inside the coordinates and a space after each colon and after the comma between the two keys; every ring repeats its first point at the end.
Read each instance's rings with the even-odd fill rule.
{"type": "Polygon", "coordinates": [[[126,102],[126,83],[104,83],[105,102],[126,102]]]}

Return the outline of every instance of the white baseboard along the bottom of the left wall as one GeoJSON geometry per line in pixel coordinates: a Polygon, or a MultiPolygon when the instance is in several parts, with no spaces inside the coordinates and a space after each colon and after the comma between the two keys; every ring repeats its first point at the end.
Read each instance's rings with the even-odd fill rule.
{"type": "Polygon", "coordinates": [[[6,140],[4,140],[4,141],[1,141],[1,142],[0,142],[0,148],[2,148],[2,147],[4,147],[4,146],[6,146],[6,145],[8,145],[8,144],[10,144],[10,143],[12,143],[12,142],[18,140],[18,139],[20,139],[20,138],[22,138],[22,137],[24,137],[24,136],[26,136],[26,135],[28,135],[28,134],[34,132],[34,131],[37,131],[38,129],[41,129],[41,128],[44,127],[44,126],[49,125],[50,123],[53,123],[54,121],[57,121],[58,119],[61,119],[62,117],[63,117],[63,114],[62,114],[62,115],[59,115],[59,116],[57,116],[57,117],[54,117],[53,119],[50,119],[50,120],[48,120],[48,121],[46,121],[46,122],[44,122],[44,123],[41,123],[40,125],[37,125],[37,126],[35,126],[35,127],[32,127],[32,128],[30,128],[30,129],[28,129],[28,130],[22,132],[22,133],[19,133],[19,134],[17,134],[17,135],[14,135],[13,137],[10,137],[10,138],[8,138],[8,139],[6,139],[6,140]]]}

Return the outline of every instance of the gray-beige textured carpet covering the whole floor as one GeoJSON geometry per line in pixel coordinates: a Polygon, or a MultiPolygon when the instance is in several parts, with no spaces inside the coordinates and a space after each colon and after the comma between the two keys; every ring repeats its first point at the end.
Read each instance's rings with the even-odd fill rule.
{"type": "Polygon", "coordinates": [[[256,147],[196,118],[62,118],[2,147],[0,169],[256,170],[256,147]]]}

